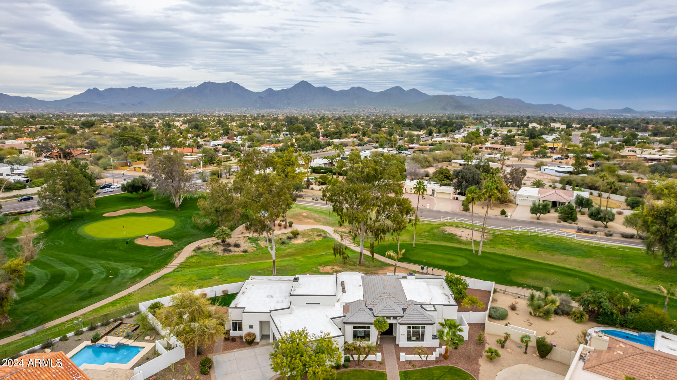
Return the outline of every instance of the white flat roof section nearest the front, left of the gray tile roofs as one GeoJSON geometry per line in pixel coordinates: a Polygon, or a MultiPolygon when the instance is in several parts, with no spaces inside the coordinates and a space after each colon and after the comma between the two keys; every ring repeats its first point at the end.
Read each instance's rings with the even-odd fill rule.
{"type": "Polygon", "coordinates": [[[306,329],[310,334],[343,335],[331,318],[343,315],[343,306],[291,306],[289,314],[272,316],[280,334],[306,329]]]}

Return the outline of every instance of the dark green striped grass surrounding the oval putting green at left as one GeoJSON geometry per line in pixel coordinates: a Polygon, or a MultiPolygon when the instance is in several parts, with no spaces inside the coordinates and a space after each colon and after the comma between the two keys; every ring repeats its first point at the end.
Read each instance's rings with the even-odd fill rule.
{"type": "MultiPolygon", "coordinates": [[[[9,310],[12,322],[0,327],[0,337],[94,304],[167,265],[185,245],[212,235],[215,227],[198,229],[192,222],[196,212],[197,199],[185,199],[181,210],[175,211],[167,198],[153,200],[152,195],[147,195],[140,199],[138,195],[121,194],[97,198],[95,208],[74,212],[72,220],[47,220],[49,229],[38,235],[44,243],[43,250],[26,266],[25,284],[16,289],[18,299],[9,310]],[[106,212],[140,206],[154,208],[157,211],[153,216],[174,223],[155,234],[170,239],[172,245],[148,247],[133,241],[125,244],[127,237],[101,239],[78,232],[92,222],[114,219],[103,216],[106,212]]],[[[15,254],[14,245],[16,239],[3,241],[8,256],[15,254]]]]}

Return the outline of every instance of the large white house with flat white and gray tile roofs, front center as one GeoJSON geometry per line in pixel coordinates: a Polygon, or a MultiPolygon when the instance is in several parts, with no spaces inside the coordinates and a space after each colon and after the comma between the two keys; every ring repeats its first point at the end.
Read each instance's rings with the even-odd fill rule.
{"type": "Polygon", "coordinates": [[[409,275],[252,276],[228,308],[230,335],[248,331],[275,341],[285,333],[307,329],[329,333],[339,343],[376,341],[373,322],[384,316],[390,323],[381,335],[394,335],[399,346],[439,347],[437,323],[466,320],[458,315],[454,295],[443,277],[409,275]]]}

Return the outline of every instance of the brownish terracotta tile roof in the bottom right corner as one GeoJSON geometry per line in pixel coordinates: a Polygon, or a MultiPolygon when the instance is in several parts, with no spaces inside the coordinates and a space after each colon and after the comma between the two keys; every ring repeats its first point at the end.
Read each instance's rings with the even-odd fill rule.
{"type": "Polygon", "coordinates": [[[677,356],[609,336],[609,348],[590,352],[583,369],[615,380],[677,380],[677,356]]]}

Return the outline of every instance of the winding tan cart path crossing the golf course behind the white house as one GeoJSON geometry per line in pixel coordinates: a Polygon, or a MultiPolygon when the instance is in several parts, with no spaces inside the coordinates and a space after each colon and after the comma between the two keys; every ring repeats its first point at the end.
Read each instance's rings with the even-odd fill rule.
{"type": "MultiPolygon", "coordinates": [[[[233,231],[233,237],[249,237],[249,236],[256,235],[255,233],[238,233],[238,234],[236,234],[236,232],[242,231],[242,228],[243,228],[243,226],[240,226],[237,229],[235,229],[233,231]]],[[[351,241],[349,241],[349,235],[337,233],[334,230],[333,227],[321,226],[321,225],[294,224],[293,228],[290,227],[288,229],[276,230],[275,233],[288,233],[289,231],[292,231],[292,229],[297,229],[297,230],[321,229],[321,230],[325,231],[328,235],[330,235],[332,238],[334,238],[336,241],[340,241],[341,243],[345,244],[346,247],[349,247],[352,250],[359,252],[359,245],[356,245],[355,243],[352,243],[351,241]]],[[[214,243],[217,240],[218,239],[215,239],[213,237],[208,237],[206,239],[194,241],[194,242],[186,245],[185,247],[183,247],[183,250],[181,250],[181,253],[179,253],[179,255],[176,256],[176,258],[174,258],[174,260],[172,260],[172,262],[167,264],[167,266],[158,270],[157,272],[154,272],[152,275],[150,275],[150,276],[146,277],[145,279],[139,281],[135,285],[132,285],[131,287],[128,287],[127,289],[125,289],[125,290],[123,290],[119,293],[111,295],[110,297],[105,298],[104,300],[96,302],[95,304],[91,304],[91,305],[87,306],[86,308],[82,308],[82,309],[77,310],[75,312],[72,312],[70,314],[66,314],[66,315],[62,316],[61,318],[51,320],[51,321],[45,323],[44,325],[41,325],[40,327],[42,329],[47,329],[47,327],[51,327],[53,325],[58,325],[59,323],[66,322],[66,320],[69,320],[71,318],[75,318],[76,316],[79,316],[81,314],[85,314],[86,312],[90,312],[91,310],[94,310],[95,308],[99,308],[100,306],[104,306],[105,304],[108,304],[108,302],[112,302],[114,300],[117,300],[118,298],[122,298],[125,295],[152,283],[156,279],[159,279],[160,277],[162,277],[162,276],[166,275],[167,273],[171,272],[172,270],[174,270],[174,268],[179,266],[186,258],[191,256],[194,253],[195,248],[198,247],[199,245],[206,244],[206,243],[214,243]]],[[[369,255],[369,252],[366,251],[365,254],[369,255]]],[[[381,260],[383,262],[386,262],[387,264],[395,265],[395,260],[391,260],[391,259],[389,259],[385,256],[374,254],[374,258],[376,258],[377,260],[381,260]]],[[[420,265],[411,264],[411,263],[408,263],[408,262],[398,262],[397,267],[398,268],[406,268],[408,270],[414,270],[414,271],[420,270],[420,265]]],[[[431,275],[434,274],[434,275],[443,276],[443,275],[446,275],[446,273],[447,273],[445,270],[441,270],[441,269],[438,269],[438,268],[429,268],[429,269],[431,270],[431,272],[430,272],[431,275]]],[[[510,292],[510,293],[519,294],[519,295],[527,295],[527,293],[531,291],[529,289],[523,289],[521,287],[512,287],[512,286],[498,285],[498,284],[496,284],[496,289],[498,289],[500,291],[507,291],[507,292],[510,292]]],[[[24,333],[25,332],[17,333],[17,334],[11,335],[9,337],[5,337],[3,339],[0,339],[0,346],[3,345],[3,344],[7,344],[9,342],[15,341],[16,339],[20,339],[22,337],[28,336],[28,335],[24,335],[24,333]]]]}

